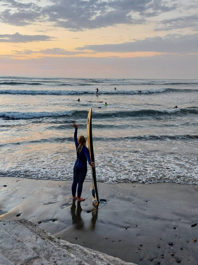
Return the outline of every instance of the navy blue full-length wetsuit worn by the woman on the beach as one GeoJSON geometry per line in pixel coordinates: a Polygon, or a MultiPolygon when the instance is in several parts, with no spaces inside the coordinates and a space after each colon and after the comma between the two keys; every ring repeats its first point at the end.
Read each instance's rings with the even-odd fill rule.
{"type": "MultiPolygon", "coordinates": [[[[78,130],[78,128],[76,128],[75,132],[74,132],[74,142],[76,145],[76,150],[78,149],[78,146],[79,146],[78,138],[77,138],[77,130],[78,130]]],[[[72,184],[72,196],[73,197],[76,196],[77,184],[78,184],[77,196],[78,196],[78,198],[81,197],[83,182],[84,182],[85,177],[87,175],[87,161],[90,165],[91,159],[89,156],[89,150],[85,145],[83,145],[81,152],[79,154],[77,154],[77,159],[76,159],[76,162],[74,164],[74,170],[73,170],[74,180],[73,180],[73,184],[72,184]]]]}

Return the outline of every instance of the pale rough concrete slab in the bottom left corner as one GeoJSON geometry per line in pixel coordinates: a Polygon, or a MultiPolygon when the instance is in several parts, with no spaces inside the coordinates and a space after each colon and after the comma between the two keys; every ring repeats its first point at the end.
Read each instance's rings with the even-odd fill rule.
{"type": "Polygon", "coordinates": [[[26,219],[0,222],[0,265],[135,265],[67,241],[26,219]]]}

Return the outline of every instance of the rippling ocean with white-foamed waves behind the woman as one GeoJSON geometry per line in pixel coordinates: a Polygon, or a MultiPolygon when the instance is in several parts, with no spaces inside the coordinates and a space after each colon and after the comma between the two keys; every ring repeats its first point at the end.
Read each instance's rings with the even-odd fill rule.
{"type": "Polygon", "coordinates": [[[72,180],[72,123],[86,136],[92,108],[100,182],[197,185],[197,95],[198,80],[0,77],[0,176],[72,180]]]}

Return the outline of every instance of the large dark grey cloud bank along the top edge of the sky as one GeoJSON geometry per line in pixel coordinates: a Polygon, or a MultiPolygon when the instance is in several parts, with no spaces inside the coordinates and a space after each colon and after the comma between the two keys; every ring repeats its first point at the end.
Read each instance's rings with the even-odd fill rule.
{"type": "Polygon", "coordinates": [[[117,24],[143,24],[147,17],[174,10],[176,4],[164,0],[52,0],[40,7],[34,3],[2,0],[8,9],[0,12],[0,21],[16,26],[50,21],[54,26],[82,31],[117,24]]]}

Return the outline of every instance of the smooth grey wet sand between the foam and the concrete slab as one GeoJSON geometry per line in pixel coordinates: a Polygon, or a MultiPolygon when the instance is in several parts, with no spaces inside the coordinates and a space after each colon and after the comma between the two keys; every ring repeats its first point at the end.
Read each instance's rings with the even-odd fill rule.
{"type": "Polygon", "coordinates": [[[56,237],[128,262],[171,265],[177,258],[198,264],[198,241],[193,242],[198,226],[191,227],[198,223],[197,186],[100,183],[100,198],[107,204],[97,211],[90,186],[84,183],[87,200],[73,204],[70,181],[1,177],[0,218],[28,219],[56,237]]]}

